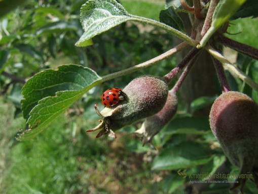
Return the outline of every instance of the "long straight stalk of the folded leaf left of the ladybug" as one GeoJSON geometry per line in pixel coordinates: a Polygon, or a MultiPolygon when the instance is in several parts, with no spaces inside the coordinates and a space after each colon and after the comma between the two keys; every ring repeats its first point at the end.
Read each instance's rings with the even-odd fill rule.
{"type": "Polygon", "coordinates": [[[172,56],[173,54],[175,54],[175,53],[177,53],[177,52],[187,48],[188,46],[189,46],[188,43],[182,42],[179,45],[175,46],[174,48],[168,50],[167,52],[164,52],[163,54],[161,54],[159,56],[156,56],[156,57],[154,57],[154,58],[152,58],[152,59],[150,59],[148,61],[145,61],[145,62],[142,62],[140,64],[137,64],[136,66],[133,66],[131,68],[128,68],[128,69],[125,69],[125,70],[121,70],[119,72],[115,72],[113,74],[108,74],[106,76],[103,76],[101,81],[104,82],[104,81],[107,81],[107,80],[110,80],[110,79],[114,79],[114,78],[117,78],[117,77],[120,77],[120,76],[124,76],[126,74],[135,72],[137,70],[149,67],[152,64],[154,64],[156,62],[159,62],[161,60],[164,60],[164,59],[172,56]]]}

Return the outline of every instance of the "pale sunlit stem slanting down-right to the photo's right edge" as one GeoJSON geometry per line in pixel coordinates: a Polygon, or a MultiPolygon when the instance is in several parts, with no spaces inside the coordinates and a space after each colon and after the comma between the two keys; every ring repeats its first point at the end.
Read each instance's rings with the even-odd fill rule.
{"type": "Polygon", "coordinates": [[[214,48],[212,48],[210,45],[206,45],[205,49],[217,60],[222,62],[224,69],[229,70],[229,72],[234,76],[236,75],[241,80],[245,81],[251,88],[258,91],[258,84],[255,83],[249,76],[245,75],[241,70],[239,70],[237,67],[233,66],[222,54],[217,52],[214,48]]]}

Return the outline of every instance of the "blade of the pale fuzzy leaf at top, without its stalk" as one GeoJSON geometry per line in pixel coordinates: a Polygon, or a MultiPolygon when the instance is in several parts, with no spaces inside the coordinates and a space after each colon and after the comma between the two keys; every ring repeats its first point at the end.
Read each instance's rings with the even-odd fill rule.
{"type": "Polygon", "coordinates": [[[90,0],[81,8],[81,23],[85,33],[76,46],[88,46],[94,36],[130,19],[131,16],[115,0],[90,0]]]}

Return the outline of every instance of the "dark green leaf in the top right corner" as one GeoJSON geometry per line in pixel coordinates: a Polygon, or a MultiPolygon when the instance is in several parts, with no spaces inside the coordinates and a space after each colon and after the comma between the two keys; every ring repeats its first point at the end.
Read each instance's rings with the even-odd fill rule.
{"type": "Polygon", "coordinates": [[[258,2],[257,0],[246,1],[239,10],[231,17],[231,19],[245,18],[245,17],[257,17],[258,16],[258,2]]]}

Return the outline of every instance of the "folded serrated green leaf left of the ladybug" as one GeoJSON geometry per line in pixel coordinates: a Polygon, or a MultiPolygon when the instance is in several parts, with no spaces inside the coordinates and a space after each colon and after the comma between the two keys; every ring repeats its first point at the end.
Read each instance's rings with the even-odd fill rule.
{"type": "Polygon", "coordinates": [[[30,78],[22,88],[21,102],[29,129],[21,130],[17,139],[25,140],[40,133],[99,82],[101,78],[94,71],[75,64],[45,70],[30,78]]]}

